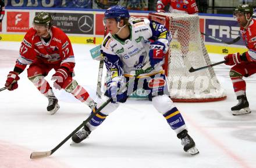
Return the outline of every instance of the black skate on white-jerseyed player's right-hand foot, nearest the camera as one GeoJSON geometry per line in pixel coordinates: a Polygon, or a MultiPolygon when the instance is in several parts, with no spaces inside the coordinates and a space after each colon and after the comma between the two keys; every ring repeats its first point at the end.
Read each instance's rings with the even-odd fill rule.
{"type": "Polygon", "coordinates": [[[180,140],[182,140],[182,145],[185,152],[189,152],[191,155],[199,154],[198,149],[195,148],[195,142],[189,136],[189,134],[187,133],[187,130],[183,130],[182,132],[177,134],[177,137],[180,140]]]}

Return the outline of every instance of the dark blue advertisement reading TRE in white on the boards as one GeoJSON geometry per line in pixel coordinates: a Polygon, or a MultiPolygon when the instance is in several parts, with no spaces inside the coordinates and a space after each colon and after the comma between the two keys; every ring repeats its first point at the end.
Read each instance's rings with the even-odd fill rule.
{"type": "MultiPolygon", "coordinates": [[[[205,19],[205,34],[222,39],[223,41],[232,41],[237,36],[240,36],[240,27],[237,21],[234,20],[205,19]]],[[[205,42],[221,43],[207,36],[205,36],[205,42]]],[[[242,39],[234,44],[244,45],[242,39]]]]}

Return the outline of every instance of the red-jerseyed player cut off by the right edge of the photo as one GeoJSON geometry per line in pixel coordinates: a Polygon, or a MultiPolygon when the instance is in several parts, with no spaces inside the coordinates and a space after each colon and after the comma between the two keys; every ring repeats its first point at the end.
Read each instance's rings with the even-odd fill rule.
{"type": "Polygon", "coordinates": [[[246,82],[244,77],[256,73],[256,19],[252,19],[253,7],[251,5],[239,5],[234,9],[234,17],[240,25],[241,36],[248,48],[245,53],[233,53],[225,56],[226,65],[233,65],[229,72],[234,93],[239,103],[231,108],[233,115],[250,114],[251,109],[246,97],[246,82]]]}

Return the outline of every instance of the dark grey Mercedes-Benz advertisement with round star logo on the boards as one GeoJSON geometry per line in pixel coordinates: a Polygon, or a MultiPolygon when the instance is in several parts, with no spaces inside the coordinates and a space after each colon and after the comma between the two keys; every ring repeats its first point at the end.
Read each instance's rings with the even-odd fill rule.
{"type": "Polygon", "coordinates": [[[56,25],[67,34],[94,34],[94,14],[51,13],[51,15],[52,25],[56,25]]]}

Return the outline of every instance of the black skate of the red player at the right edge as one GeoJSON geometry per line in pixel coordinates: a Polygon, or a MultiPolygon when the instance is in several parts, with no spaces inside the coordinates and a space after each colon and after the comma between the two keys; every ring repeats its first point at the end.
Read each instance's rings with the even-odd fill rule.
{"type": "Polygon", "coordinates": [[[233,115],[245,115],[250,114],[251,109],[249,108],[249,103],[247,101],[246,95],[237,96],[238,103],[231,108],[233,115]]]}

